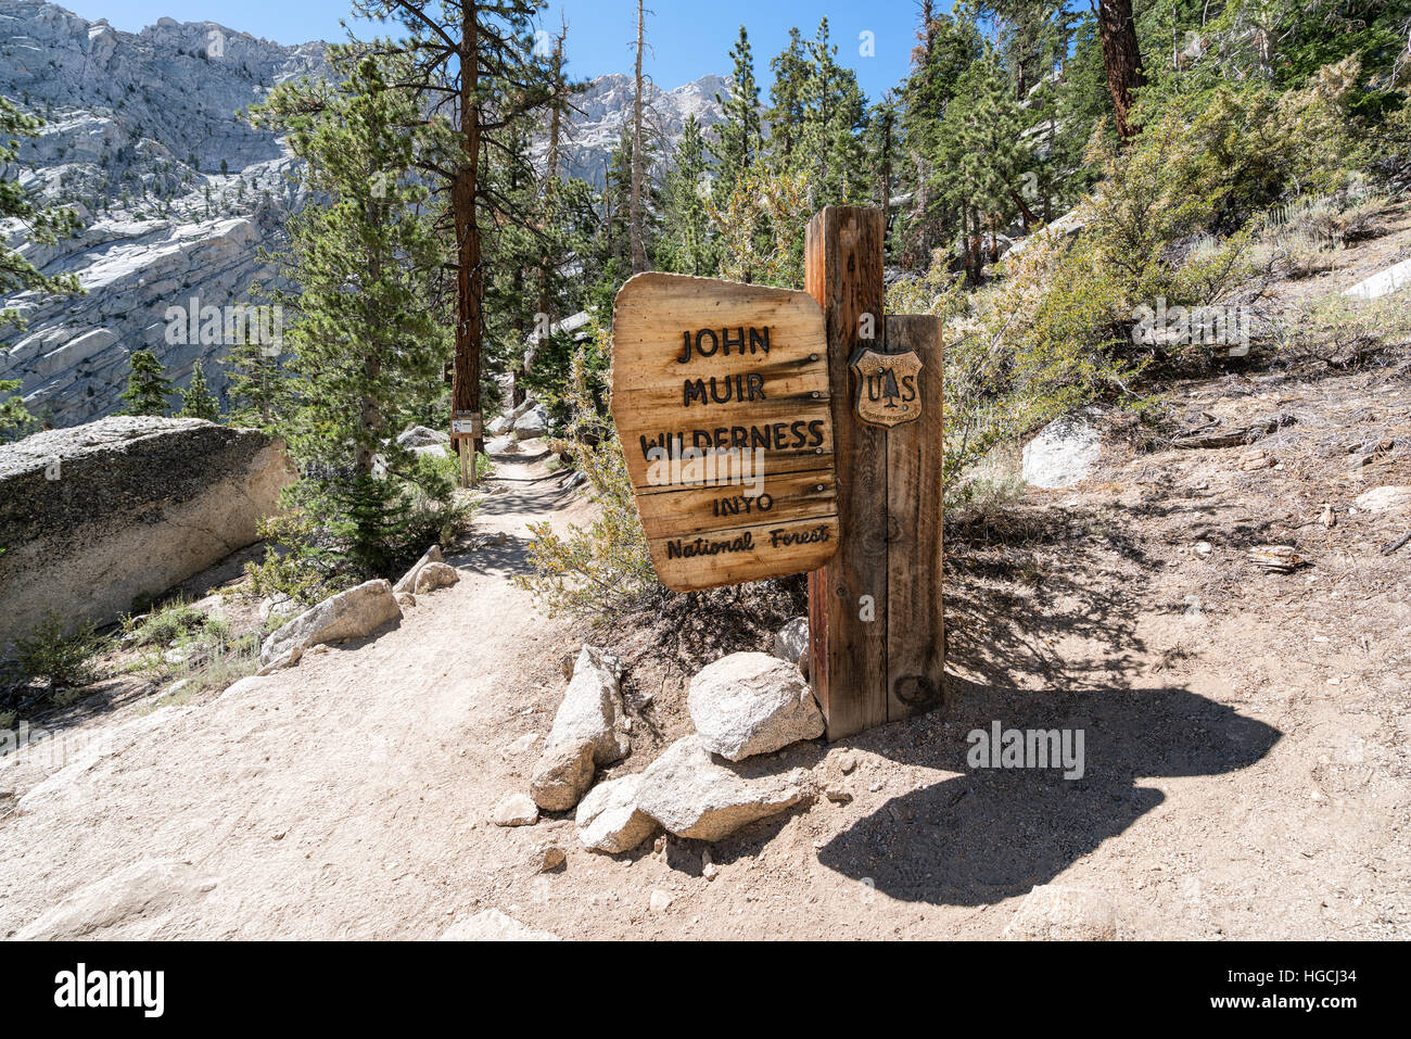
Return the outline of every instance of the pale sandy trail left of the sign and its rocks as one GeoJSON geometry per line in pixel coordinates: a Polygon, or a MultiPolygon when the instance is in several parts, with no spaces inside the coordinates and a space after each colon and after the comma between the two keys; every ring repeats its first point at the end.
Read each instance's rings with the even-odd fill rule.
{"type": "Polygon", "coordinates": [[[476,529],[508,539],[449,556],[460,583],[395,630],[248,692],[95,720],[47,783],[61,762],[17,762],[16,799],[45,785],[0,822],[0,936],[436,937],[473,911],[501,867],[477,837],[518,764],[495,740],[547,724],[521,713],[549,693],[559,628],[511,576],[525,524],[579,508],[562,483],[542,455],[499,459],[476,529]]]}

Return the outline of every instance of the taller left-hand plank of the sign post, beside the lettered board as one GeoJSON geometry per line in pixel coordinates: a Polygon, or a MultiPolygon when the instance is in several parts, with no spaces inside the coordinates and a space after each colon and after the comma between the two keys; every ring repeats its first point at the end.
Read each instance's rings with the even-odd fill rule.
{"type": "Polygon", "coordinates": [[[804,284],[824,311],[830,407],[837,457],[838,552],[809,576],[811,680],[837,740],[888,720],[888,474],[886,431],[852,408],[849,359],[861,346],[862,318],[882,335],[883,215],[830,206],[809,222],[804,284]],[[875,620],[862,620],[864,597],[875,620]]]}

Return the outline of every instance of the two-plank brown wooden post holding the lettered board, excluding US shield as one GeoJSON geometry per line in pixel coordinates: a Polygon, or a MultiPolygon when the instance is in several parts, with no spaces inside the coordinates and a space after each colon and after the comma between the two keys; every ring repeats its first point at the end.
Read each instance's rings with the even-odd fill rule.
{"type": "Polygon", "coordinates": [[[882,210],[830,206],[806,240],[837,446],[838,552],[809,575],[810,680],[830,740],[933,707],[941,689],[941,323],[883,318],[883,234],[882,210]],[[920,360],[917,411],[896,425],[859,415],[851,366],[866,350],[920,360]]]}

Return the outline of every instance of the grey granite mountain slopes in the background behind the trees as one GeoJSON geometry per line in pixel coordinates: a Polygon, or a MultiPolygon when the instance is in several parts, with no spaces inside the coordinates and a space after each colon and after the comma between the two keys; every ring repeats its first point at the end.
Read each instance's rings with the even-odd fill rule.
{"type": "MultiPolygon", "coordinates": [[[[0,0],[0,93],[47,120],[23,147],[23,182],[38,198],[75,206],[83,223],[73,239],[23,251],[45,272],[78,274],[86,295],[0,301],[30,322],[0,344],[0,378],[23,380],[32,412],[69,426],[117,411],[128,354],[140,349],[152,350],[178,385],[200,359],[223,391],[217,361],[229,343],[192,342],[213,336],[189,328],[205,325],[205,308],[250,302],[250,285],[270,275],[260,247],[278,241],[301,203],[289,178],[295,160],[237,113],[278,82],[326,75],[323,51],[322,42],[284,47],[171,18],[121,32],[41,0],[0,0]],[[172,308],[183,316],[172,318],[172,308]],[[169,336],[174,322],[188,335],[169,336]]],[[[724,89],[717,76],[653,88],[658,134],[674,143],[687,113],[704,126],[718,121],[714,96],[724,89]]],[[[577,107],[566,168],[601,184],[631,107],[631,79],[594,80],[577,107]]],[[[23,232],[0,226],[11,243],[23,232]]]]}

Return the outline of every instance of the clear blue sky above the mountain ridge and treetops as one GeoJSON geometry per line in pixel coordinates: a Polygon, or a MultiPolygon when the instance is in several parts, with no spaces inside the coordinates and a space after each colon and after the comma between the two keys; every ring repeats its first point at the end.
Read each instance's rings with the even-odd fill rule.
{"type": "MultiPolygon", "coordinates": [[[[339,18],[349,0],[58,0],[76,14],[107,18],[135,32],[166,16],[178,21],[216,21],[281,44],[341,40],[339,18]]],[[[950,8],[950,3],[938,7],[950,8]]],[[[570,71],[579,78],[631,72],[635,0],[552,0],[545,14],[557,27],[559,8],[569,18],[570,71]]],[[[768,99],[769,59],[783,49],[790,25],[811,38],[828,17],[838,61],[854,68],[869,100],[906,75],[916,42],[916,0],[648,0],[646,35],[652,54],[646,71],[663,90],[710,72],[729,75],[728,52],[744,24],[755,52],[755,73],[768,99]],[[871,32],[873,55],[861,55],[861,34],[871,32]]],[[[358,35],[365,35],[360,31],[358,35]]]]}

